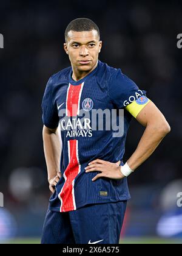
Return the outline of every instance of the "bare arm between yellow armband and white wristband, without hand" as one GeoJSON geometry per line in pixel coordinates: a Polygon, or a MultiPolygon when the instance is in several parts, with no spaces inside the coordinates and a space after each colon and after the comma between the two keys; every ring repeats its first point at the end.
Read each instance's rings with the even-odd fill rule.
{"type": "Polygon", "coordinates": [[[127,160],[127,164],[133,171],[152,155],[163,138],[170,132],[169,124],[153,102],[149,102],[141,110],[136,120],[146,129],[135,152],[127,160]]]}

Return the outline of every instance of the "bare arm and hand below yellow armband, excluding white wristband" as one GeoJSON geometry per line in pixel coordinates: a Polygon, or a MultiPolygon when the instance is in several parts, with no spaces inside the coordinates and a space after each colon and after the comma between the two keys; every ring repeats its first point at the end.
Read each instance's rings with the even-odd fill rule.
{"type": "MultiPolygon", "coordinates": [[[[149,102],[141,110],[138,116],[136,116],[136,120],[145,126],[146,129],[135,152],[127,160],[127,164],[133,171],[152,155],[163,138],[170,132],[169,124],[153,102],[149,102]]],[[[99,177],[111,179],[123,179],[125,177],[121,173],[122,167],[120,169],[118,163],[110,163],[101,159],[90,162],[90,165],[86,167],[86,172],[92,171],[101,171],[92,179],[93,181],[99,177]]]]}

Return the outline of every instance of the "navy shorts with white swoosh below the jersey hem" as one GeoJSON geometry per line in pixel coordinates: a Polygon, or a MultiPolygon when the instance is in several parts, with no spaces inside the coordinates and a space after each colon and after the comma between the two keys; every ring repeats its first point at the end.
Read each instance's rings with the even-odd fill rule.
{"type": "Polygon", "coordinates": [[[41,244],[118,244],[126,204],[90,204],[63,213],[47,210],[41,244]]]}

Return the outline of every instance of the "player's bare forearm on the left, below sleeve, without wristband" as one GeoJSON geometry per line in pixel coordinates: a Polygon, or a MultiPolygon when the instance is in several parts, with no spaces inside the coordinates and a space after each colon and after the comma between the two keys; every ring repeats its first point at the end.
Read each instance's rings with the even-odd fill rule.
{"type": "Polygon", "coordinates": [[[58,130],[50,131],[47,127],[43,127],[42,137],[44,142],[44,155],[47,165],[48,180],[56,176],[59,172],[61,157],[61,142],[58,130]]]}

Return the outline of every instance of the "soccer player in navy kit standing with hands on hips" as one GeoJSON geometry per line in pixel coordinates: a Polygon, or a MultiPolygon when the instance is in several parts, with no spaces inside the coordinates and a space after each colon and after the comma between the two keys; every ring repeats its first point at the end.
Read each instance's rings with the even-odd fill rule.
{"type": "MultiPolygon", "coordinates": [[[[121,69],[98,59],[102,41],[93,21],[73,20],[65,40],[71,66],[50,77],[42,99],[42,135],[52,196],[41,243],[118,244],[130,199],[127,176],[150,157],[170,126],[146,91],[121,69]],[[120,136],[105,126],[99,129],[101,120],[94,119],[93,110],[111,113],[114,109],[116,124],[124,112],[120,136]],[[124,164],[132,116],[146,129],[124,164]]],[[[103,121],[112,123],[106,116],[103,121]]]]}

